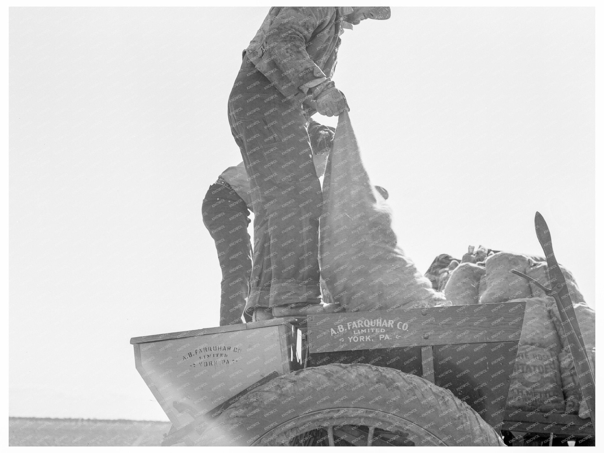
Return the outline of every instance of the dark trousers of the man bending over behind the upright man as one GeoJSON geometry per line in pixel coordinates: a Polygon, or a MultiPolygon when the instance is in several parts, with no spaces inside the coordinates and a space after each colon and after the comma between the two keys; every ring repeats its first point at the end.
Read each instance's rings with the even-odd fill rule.
{"type": "Polygon", "coordinates": [[[202,214],[205,227],[216,244],[222,269],[220,326],[239,324],[252,270],[248,207],[235,191],[213,184],[205,194],[202,214]]]}

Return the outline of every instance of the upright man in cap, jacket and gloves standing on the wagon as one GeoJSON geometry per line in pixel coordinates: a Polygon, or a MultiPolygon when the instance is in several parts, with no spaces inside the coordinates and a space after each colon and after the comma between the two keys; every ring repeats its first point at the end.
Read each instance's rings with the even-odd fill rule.
{"type": "Polygon", "coordinates": [[[271,7],[243,52],[228,100],[231,132],[250,178],[254,260],[246,312],[321,303],[318,225],[323,197],[309,119],[348,110],[330,79],[339,35],[388,7],[271,7]],[[262,252],[260,252],[262,251],[262,252]]]}

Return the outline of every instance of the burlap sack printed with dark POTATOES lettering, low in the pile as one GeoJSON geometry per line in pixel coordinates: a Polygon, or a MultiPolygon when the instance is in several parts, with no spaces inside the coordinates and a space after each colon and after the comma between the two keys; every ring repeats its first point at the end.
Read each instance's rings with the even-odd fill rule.
{"type": "Polygon", "coordinates": [[[507,409],[564,413],[557,355],[534,345],[518,347],[507,409]]]}

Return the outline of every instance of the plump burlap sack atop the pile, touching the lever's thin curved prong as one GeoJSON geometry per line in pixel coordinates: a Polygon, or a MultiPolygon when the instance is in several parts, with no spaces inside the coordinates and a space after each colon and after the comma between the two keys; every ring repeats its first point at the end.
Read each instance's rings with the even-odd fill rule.
{"type": "Polygon", "coordinates": [[[510,272],[516,269],[526,272],[529,262],[524,255],[499,252],[490,255],[484,262],[487,275],[487,289],[480,296],[481,304],[507,302],[510,299],[531,297],[528,282],[510,272]]]}

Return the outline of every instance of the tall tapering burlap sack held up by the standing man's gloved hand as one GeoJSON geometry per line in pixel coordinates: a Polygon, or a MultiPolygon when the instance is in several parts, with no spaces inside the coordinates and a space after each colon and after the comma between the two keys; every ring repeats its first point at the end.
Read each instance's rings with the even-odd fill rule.
{"type": "Polygon", "coordinates": [[[391,210],[371,184],[347,112],[323,181],[319,263],[324,301],[347,312],[451,304],[397,245],[391,210]]]}

